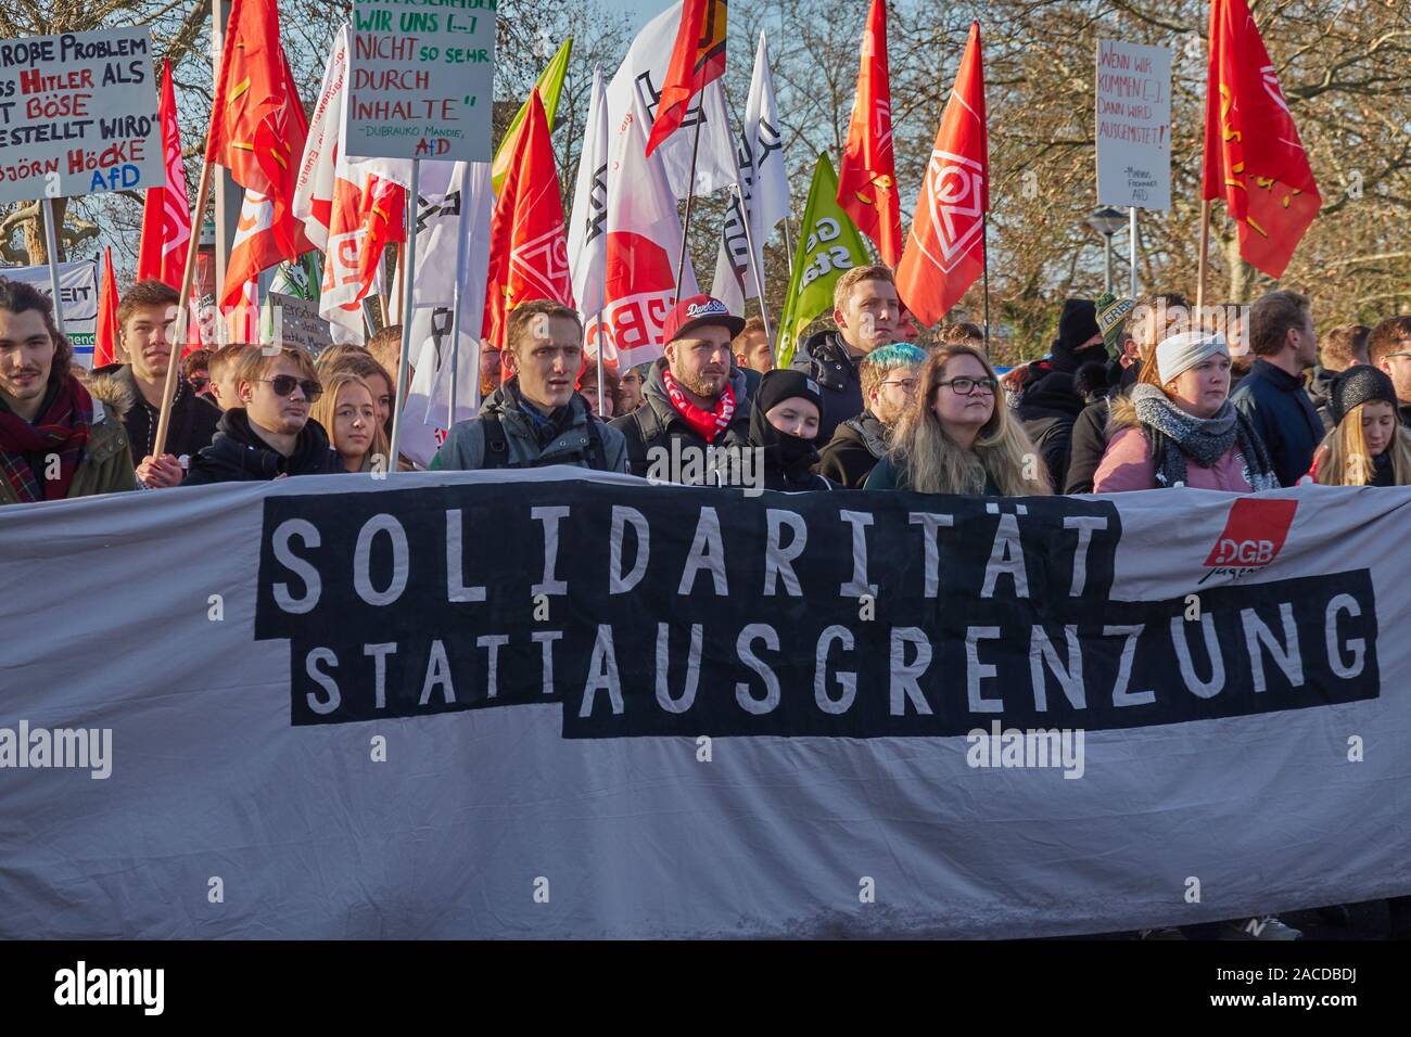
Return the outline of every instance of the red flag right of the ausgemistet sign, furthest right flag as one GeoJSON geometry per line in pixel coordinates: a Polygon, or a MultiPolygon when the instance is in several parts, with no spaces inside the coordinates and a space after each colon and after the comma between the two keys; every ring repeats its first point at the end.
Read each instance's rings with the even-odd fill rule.
{"type": "Polygon", "coordinates": [[[1239,254],[1283,275],[1322,209],[1308,152],[1245,0],[1211,3],[1202,198],[1223,198],[1239,254]]]}

